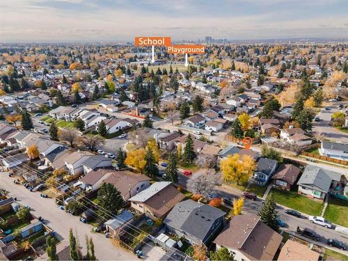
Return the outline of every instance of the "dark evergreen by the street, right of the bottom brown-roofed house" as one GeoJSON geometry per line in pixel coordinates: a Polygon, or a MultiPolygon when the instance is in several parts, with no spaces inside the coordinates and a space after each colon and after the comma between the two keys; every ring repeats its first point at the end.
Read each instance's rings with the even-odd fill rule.
{"type": "Polygon", "coordinates": [[[261,217],[263,223],[273,230],[278,230],[278,212],[276,211],[276,203],[274,202],[272,193],[269,193],[266,200],[264,200],[264,204],[262,205],[258,215],[261,217]]]}

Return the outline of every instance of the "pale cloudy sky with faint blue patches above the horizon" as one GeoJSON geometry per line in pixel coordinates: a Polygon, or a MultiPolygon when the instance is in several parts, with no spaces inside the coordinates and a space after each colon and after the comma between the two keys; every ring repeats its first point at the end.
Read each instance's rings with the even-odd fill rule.
{"type": "Polygon", "coordinates": [[[0,42],[348,38],[348,0],[0,0],[0,42]]]}

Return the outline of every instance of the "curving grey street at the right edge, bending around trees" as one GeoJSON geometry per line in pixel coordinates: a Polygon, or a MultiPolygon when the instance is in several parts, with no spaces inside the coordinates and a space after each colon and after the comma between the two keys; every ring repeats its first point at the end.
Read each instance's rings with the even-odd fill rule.
{"type": "Polygon", "coordinates": [[[324,108],[320,109],[317,116],[320,118],[319,122],[313,121],[313,132],[322,132],[326,139],[332,141],[348,142],[348,134],[340,132],[333,126],[329,126],[331,115],[338,111],[337,106],[339,104],[347,105],[348,102],[334,102],[328,107],[330,110],[326,111],[324,108]]]}

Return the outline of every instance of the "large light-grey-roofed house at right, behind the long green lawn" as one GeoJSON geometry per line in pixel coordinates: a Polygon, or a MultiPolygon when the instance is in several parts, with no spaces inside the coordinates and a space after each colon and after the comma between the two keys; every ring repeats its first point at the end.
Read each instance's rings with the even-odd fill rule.
{"type": "Polygon", "coordinates": [[[341,173],[328,171],[324,168],[308,165],[303,171],[299,182],[299,194],[309,198],[324,200],[329,191],[340,186],[341,173]]]}

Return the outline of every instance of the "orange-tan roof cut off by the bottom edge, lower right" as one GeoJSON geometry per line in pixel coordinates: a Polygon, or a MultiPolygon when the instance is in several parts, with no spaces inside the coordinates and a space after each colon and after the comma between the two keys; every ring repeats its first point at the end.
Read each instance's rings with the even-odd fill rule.
{"type": "Polygon", "coordinates": [[[318,261],[320,253],[313,251],[307,245],[293,240],[287,240],[281,248],[278,260],[308,260],[318,261]]]}

